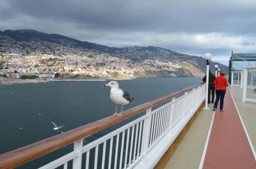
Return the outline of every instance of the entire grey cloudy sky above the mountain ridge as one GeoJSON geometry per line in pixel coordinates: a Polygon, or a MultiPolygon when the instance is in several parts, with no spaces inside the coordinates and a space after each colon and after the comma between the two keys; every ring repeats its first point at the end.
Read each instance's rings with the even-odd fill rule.
{"type": "Polygon", "coordinates": [[[0,31],[35,29],[112,47],[256,52],[256,0],[0,0],[0,31]]]}

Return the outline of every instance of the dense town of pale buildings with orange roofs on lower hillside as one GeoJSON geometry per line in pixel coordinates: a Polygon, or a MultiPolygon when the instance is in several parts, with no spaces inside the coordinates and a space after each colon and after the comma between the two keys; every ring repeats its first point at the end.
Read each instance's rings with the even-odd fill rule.
{"type": "MultiPolygon", "coordinates": [[[[129,78],[143,71],[175,71],[180,68],[172,62],[146,59],[134,62],[130,59],[113,57],[109,54],[37,54],[29,55],[1,53],[1,75],[20,78],[36,75],[38,78],[129,78]]],[[[174,74],[173,74],[174,76],[174,74]]]]}

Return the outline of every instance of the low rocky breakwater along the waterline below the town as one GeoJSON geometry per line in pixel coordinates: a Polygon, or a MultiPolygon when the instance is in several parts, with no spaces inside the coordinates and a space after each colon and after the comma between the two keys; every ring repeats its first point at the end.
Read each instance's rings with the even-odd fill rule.
{"type": "Polygon", "coordinates": [[[19,84],[41,84],[48,82],[105,82],[108,80],[132,80],[131,78],[56,78],[49,80],[42,79],[20,79],[0,77],[0,86],[13,86],[19,84]]]}

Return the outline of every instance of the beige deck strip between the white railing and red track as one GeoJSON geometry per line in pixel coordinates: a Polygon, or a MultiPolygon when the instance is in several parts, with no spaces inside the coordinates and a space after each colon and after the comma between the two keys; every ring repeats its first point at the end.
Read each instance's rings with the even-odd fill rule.
{"type": "Polygon", "coordinates": [[[184,136],[165,169],[198,169],[205,141],[211,125],[213,104],[209,110],[202,109],[184,136]]]}

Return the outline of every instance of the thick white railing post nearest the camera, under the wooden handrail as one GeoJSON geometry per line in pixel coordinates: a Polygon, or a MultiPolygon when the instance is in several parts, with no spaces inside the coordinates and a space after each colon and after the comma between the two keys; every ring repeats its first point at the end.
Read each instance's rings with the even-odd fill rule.
{"type": "Polygon", "coordinates": [[[83,139],[80,139],[74,142],[74,151],[78,153],[77,158],[73,159],[74,169],[81,169],[82,167],[82,148],[83,148],[83,139]]]}

